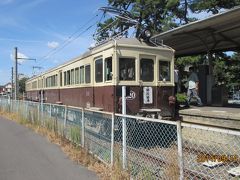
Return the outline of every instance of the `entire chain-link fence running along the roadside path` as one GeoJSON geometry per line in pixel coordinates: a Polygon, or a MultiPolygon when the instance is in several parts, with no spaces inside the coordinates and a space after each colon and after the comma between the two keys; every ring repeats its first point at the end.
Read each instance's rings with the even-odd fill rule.
{"type": "Polygon", "coordinates": [[[238,131],[8,99],[0,110],[54,130],[133,179],[240,177],[238,131]]]}

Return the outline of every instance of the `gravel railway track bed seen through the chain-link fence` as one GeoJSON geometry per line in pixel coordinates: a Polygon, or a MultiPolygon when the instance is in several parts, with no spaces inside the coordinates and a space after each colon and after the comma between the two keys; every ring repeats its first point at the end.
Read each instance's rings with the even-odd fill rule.
{"type": "MultiPolygon", "coordinates": [[[[121,135],[121,132],[118,132],[121,135]]],[[[94,131],[93,129],[87,129],[86,128],[86,134],[88,134],[89,141],[93,142],[92,148],[99,148],[102,149],[108,149],[111,145],[111,137],[109,135],[103,135],[99,131],[94,131]],[[99,146],[99,147],[97,147],[99,146]]],[[[122,151],[122,139],[115,137],[115,153],[116,149],[119,149],[118,153],[121,155],[122,151]]],[[[129,143],[129,142],[127,142],[129,143]]],[[[158,147],[158,149],[154,149],[157,146],[155,145],[152,148],[149,147],[138,147],[135,148],[133,146],[127,146],[127,161],[135,166],[136,169],[148,169],[151,174],[161,179],[161,177],[164,177],[164,171],[166,169],[170,168],[178,168],[178,160],[177,160],[177,154],[173,155],[169,152],[177,153],[177,147],[176,145],[175,149],[169,149],[169,148],[161,148],[158,147]],[[164,152],[165,151],[165,152],[164,152]],[[175,161],[172,161],[169,157],[175,158],[175,161]]],[[[96,150],[98,152],[98,150],[96,150]]],[[[110,150],[109,150],[110,151],[110,150]]],[[[101,152],[100,152],[101,153],[101,152]]],[[[225,179],[229,179],[228,174],[226,174],[227,169],[229,168],[228,164],[224,164],[221,167],[217,168],[208,168],[204,167],[202,164],[197,162],[197,156],[199,154],[206,154],[206,151],[203,149],[199,149],[198,146],[188,146],[187,144],[183,147],[183,155],[184,160],[187,162],[184,165],[184,177],[189,177],[189,179],[211,179],[213,177],[224,177],[225,179]],[[189,162],[190,163],[189,163],[189,162]],[[192,163],[192,164],[191,164],[192,163]],[[217,169],[220,170],[220,173],[217,171],[217,169]],[[219,174],[214,174],[219,173],[219,174]]],[[[240,164],[239,162],[235,162],[240,164]]],[[[134,169],[134,167],[133,167],[134,169]]],[[[174,170],[174,169],[173,169],[174,170]]],[[[141,172],[139,170],[139,172],[141,172]]],[[[179,170],[178,170],[179,172],[179,170]]],[[[136,173],[136,172],[135,172],[136,173]]]]}

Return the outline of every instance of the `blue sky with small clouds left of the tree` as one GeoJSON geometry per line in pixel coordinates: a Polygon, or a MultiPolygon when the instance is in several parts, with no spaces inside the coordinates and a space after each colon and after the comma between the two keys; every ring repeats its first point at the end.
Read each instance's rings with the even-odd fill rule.
{"type": "Polygon", "coordinates": [[[14,47],[18,47],[19,57],[37,59],[19,65],[19,73],[28,76],[33,73],[32,66],[42,66],[41,71],[46,71],[86,51],[94,42],[92,34],[96,26],[57,53],[43,58],[72,40],[71,35],[79,28],[81,33],[96,25],[101,17],[98,8],[102,6],[107,6],[107,0],[0,0],[0,85],[11,81],[14,47]],[[90,18],[92,21],[81,28],[90,18]]]}

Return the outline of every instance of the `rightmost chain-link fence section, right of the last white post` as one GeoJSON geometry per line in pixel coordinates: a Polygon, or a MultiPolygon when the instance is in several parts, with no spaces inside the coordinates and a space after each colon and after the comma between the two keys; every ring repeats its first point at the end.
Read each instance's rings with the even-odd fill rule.
{"type": "Polygon", "coordinates": [[[182,136],[185,177],[233,179],[240,175],[240,132],[182,123],[182,136]]]}

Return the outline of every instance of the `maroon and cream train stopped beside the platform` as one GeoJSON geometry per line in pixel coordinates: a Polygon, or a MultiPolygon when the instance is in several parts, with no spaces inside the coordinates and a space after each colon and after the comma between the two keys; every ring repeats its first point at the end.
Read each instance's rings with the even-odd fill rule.
{"type": "Polygon", "coordinates": [[[126,86],[128,114],[172,116],[173,76],[174,50],[122,38],[29,79],[26,92],[32,101],[120,112],[126,86]]]}

